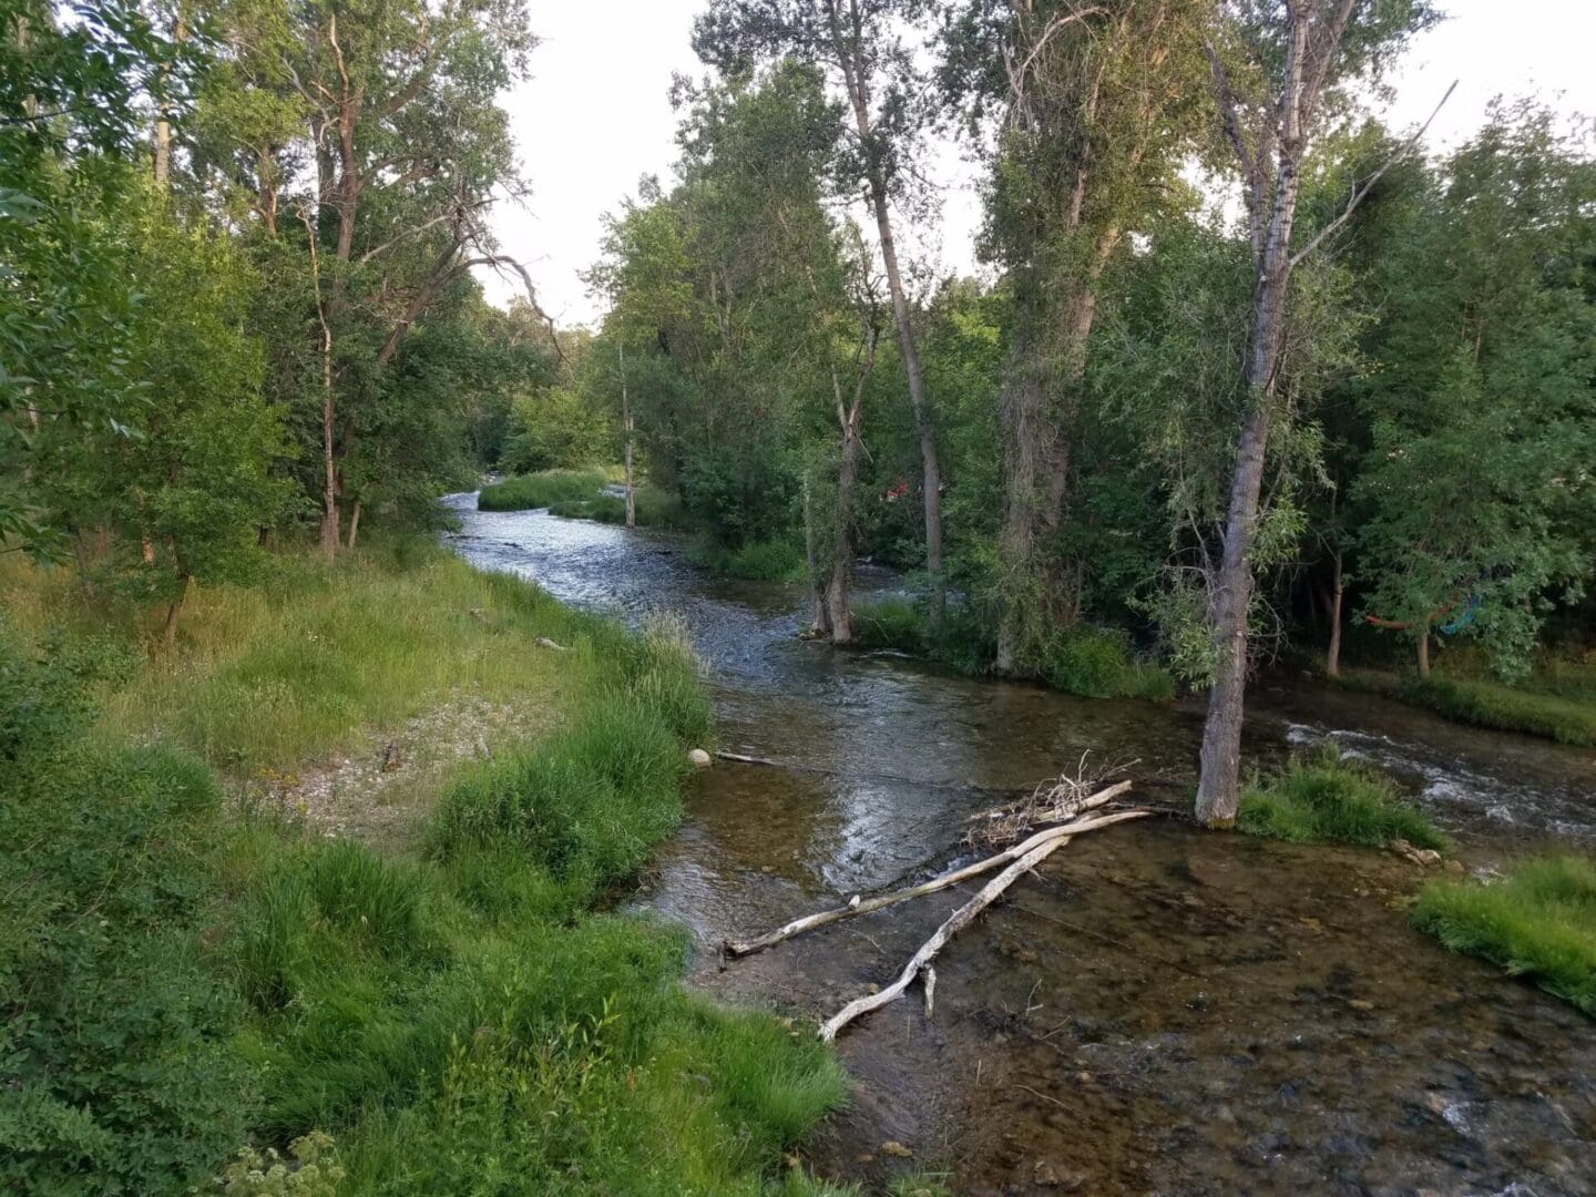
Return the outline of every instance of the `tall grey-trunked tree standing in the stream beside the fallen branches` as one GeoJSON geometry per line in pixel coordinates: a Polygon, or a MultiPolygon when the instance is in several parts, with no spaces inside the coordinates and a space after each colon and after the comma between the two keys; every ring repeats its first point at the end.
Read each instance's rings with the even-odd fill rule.
{"type": "MultiPolygon", "coordinates": [[[[1235,442],[1219,562],[1208,581],[1213,688],[1203,725],[1197,817],[1229,827],[1240,798],[1242,707],[1253,605],[1251,549],[1277,417],[1294,268],[1334,228],[1293,243],[1302,163],[1337,83],[1358,78],[1433,19],[1422,0],[1227,0],[1207,46],[1226,142],[1242,177],[1253,295],[1242,369],[1248,410],[1235,442]]],[[[1353,193],[1349,204],[1355,206],[1353,193]]]]}

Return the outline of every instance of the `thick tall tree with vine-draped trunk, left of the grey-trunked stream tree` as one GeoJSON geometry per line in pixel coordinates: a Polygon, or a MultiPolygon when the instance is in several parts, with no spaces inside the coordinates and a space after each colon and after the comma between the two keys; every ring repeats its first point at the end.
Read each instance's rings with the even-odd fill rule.
{"type": "Polygon", "coordinates": [[[975,0],[943,37],[950,93],[975,118],[1001,112],[985,236],[1013,289],[1001,672],[1079,618],[1084,562],[1060,549],[1082,484],[1088,345],[1116,252],[1179,195],[1203,14],[1170,0],[975,0]]]}

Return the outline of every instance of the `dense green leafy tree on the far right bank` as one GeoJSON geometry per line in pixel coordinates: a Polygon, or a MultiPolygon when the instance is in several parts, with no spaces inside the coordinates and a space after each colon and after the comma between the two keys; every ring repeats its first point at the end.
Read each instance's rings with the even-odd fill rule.
{"type": "Polygon", "coordinates": [[[1527,672],[1553,598],[1591,570],[1596,171],[1550,113],[1495,109],[1381,265],[1360,410],[1363,613],[1430,670],[1433,632],[1527,672]]]}

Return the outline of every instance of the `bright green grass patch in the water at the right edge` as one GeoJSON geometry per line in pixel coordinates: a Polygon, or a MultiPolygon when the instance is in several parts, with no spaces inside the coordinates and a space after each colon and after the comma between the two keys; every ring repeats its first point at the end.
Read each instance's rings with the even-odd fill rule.
{"type": "Polygon", "coordinates": [[[1412,918],[1452,951],[1527,977],[1596,1018],[1596,862],[1543,857],[1489,884],[1435,883],[1412,918]]]}

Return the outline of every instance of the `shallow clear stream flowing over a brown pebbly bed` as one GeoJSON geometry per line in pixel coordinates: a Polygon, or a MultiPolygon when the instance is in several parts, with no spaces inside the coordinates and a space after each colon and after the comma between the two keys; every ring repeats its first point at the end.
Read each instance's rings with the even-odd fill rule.
{"type": "MultiPolygon", "coordinates": [[[[835,651],[796,637],[798,591],[707,578],[669,536],[450,504],[477,565],[685,619],[720,747],[787,766],[701,774],[635,900],[693,929],[694,983],[718,996],[814,1017],[886,983],[967,892],[726,967],[717,948],[938,871],[996,793],[1084,753],[1135,761],[1146,801],[1189,795],[1197,704],[835,651]]],[[[1250,760],[1334,739],[1401,779],[1470,868],[1596,846],[1596,753],[1298,680],[1250,699],[1250,760]]],[[[1385,854],[1179,819],[1082,836],[938,956],[934,1018],[915,986],[843,1033],[854,1103],[811,1160],[867,1183],[942,1170],[975,1194],[1596,1194],[1596,1023],[1412,930],[1422,879],[1385,854]]]]}

